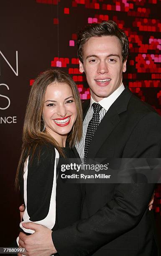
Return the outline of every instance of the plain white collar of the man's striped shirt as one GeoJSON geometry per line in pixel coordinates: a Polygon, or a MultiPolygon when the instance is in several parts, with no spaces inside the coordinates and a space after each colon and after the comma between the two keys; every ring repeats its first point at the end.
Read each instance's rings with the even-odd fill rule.
{"type": "Polygon", "coordinates": [[[115,100],[120,96],[120,94],[123,92],[123,90],[125,89],[123,83],[118,87],[118,89],[116,89],[114,92],[112,92],[112,94],[106,98],[103,98],[102,100],[100,100],[99,102],[96,102],[95,100],[93,100],[92,96],[91,96],[91,100],[90,100],[90,106],[89,106],[89,111],[91,110],[92,104],[94,102],[99,103],[102,108],[104,108],[106,111],[109,110],[110,106],[115,102],[115,100]]]}

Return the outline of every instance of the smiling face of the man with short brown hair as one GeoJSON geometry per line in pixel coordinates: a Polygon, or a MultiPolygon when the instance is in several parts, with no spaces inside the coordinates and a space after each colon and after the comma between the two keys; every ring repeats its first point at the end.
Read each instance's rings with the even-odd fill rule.
{"type": "Polygon", "coordinates": [[[122,83],[126,71],[121,44],[116,36],[91,37],[83,46],[83,64],[79,70],[86,74],[92,98],[99,102],[122,83]]]}

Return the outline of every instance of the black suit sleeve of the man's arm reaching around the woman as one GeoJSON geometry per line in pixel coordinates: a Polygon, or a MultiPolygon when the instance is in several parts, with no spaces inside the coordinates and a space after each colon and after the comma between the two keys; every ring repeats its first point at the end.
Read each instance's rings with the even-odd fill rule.
{"type": "MultiPolygon", "coordinates": [[[[156,113],[135,125],[124,151],[126,158],[161,157],[161,118],[156,113]]],[[[148,210],[153,190],[154,184],[116,184],[112,200],[94,215],[52,233],[59,255],[87,255],[134,228],[148,210]]]]}

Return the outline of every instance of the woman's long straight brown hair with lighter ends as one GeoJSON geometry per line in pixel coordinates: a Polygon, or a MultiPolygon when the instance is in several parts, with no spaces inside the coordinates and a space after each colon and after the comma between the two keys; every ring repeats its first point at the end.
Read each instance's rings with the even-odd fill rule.
{"type": "Polygon", "coordinates": [[[63,149],[59,146],[56,140],[50,136],[49,133],[43,131],[43,122],[41,122],[46,88],[49,84],[56,82],[69,84],[77,106],[77,119],[67,137],[69,147],[74,147],[75,143],[79,141],[82,136],[82,103],[79,97],[79,91],[72,78],[58,69],[50,69],[39,74],[31,87],[28,98],[23,125],[23,145],[15,178],[16,189],[19,186],[19,179],[23,175],[23,166],[26,158],[29,155],[33,158],[38,145],[51,143],[58,150],[59,154],[64,156],[63,149]]]}

